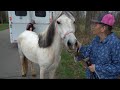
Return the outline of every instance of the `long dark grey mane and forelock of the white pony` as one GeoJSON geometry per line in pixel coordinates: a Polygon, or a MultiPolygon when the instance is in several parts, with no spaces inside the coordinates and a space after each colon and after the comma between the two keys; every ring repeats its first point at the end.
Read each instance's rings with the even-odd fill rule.
{"type": "Polygon", "coordinates": [[[38,35],[38,37],[39,37],[39,40],[38,40],[39,47],[46,48],[46,47],[51,46],[51,44],[53,43],[53,40],[54,40],[54,36],[55,36],[55,21],[63,14],[65,14],[68,18],[71,18],[71,16],[70,16],[71,13],[70,12],[67,12],[67,11],[61,12],[59,14],[59,16],[57,16],[55,18],[55,20],[53,20],[53,22],[49,25],[46,35],[44,35],[44,34],[43,35],[42,34],[38,35]]]}

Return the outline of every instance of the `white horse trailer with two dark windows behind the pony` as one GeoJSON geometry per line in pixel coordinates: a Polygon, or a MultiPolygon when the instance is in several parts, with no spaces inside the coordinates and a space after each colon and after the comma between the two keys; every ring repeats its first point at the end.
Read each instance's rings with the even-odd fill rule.
{"type": "Polygon", "coordinates": [[[55,16],[54,11],[8,11],[10,42],[16,43],[17,37],[26,30],[31,20],[35,21],[35,32],[42,32],[55,16]]]}

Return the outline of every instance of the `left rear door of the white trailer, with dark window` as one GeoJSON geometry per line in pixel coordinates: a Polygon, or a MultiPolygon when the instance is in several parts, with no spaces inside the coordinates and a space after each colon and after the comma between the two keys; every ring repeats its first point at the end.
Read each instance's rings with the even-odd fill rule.
{"type": "Polygon", "coordinates": [[[11,12],[11,27],[10,37],[11,43],[17,41],[18,36],[26,30],[27,24],[30,22],[29,11],[10,11],[11,12]]]}

